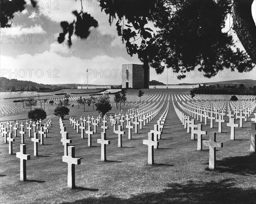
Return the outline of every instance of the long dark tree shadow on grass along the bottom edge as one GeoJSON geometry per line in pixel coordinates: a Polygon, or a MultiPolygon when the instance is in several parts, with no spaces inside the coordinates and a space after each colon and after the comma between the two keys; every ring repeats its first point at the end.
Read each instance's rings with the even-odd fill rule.
{"type": "Polygon", "coordinates": [[[187,181],[184,183],[167,184],[163,192],[142,193],[131,198],[115,196],[89,197],[62,204],[252,204],[255,203],[256,189],[235,187],[235,181],[224,179],[215,181],[187,181]]]}

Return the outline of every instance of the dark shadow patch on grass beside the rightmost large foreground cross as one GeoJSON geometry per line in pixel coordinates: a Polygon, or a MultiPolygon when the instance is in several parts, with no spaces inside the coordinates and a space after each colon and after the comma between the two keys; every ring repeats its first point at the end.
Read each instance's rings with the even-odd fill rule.
{"type": "Polygon", "coordinates": [[[243,176],[256,175],[256,154],[247,156],[234,156],[223,158],[218,161],[217,171],[220,173],[229,172],[243,176]]]}

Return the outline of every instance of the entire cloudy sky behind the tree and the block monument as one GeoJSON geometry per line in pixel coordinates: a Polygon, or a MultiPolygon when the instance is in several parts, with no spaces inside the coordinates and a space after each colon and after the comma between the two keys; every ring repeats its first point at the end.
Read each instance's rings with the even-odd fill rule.
{"type": "MultiPolygon", "coordinates": [[[[33,8],[28,0],[26,9],[16,13],[11,28],[0,29],[0,68],[1,77],[29,80],[44,84],[87,83],[120,85],[122,64],[141,64],[137,56],[130,57],[121,38],[117,36],[116,26],[110,26],[108,17],[95,0],[83,1],[84,11],[98,22],[98,28],[91,29],[87,40],[73,37],[73,45],[58,44],[58,34],[62,32],[60,22],[72,22],[73,10],[81,10],[80,1],[41,0],[33,8]]],[[[256,0],[253,3],[256,10],[256,0]]],[[[256,17],[256,14],[253,14],[256,17]]],[[[255,20],[255,19],[254,19],[255,20]]],[[[229,30],[227,21],[226,30],[229,30]]],[[[235,35],[235,34],[234,34],[235,35]]],[[[237,37],[234,36],[238,41],[237,37]]],[[[244,49],[240,42],[236,45],[244,49]]],[[[166,83],[167,71],[157,75],[150,69],[150,80],[166,83]]],[[[239,74],[228,70],[207,79],[199,72],[192,72],[183,80],[168,70],[169,84],[217,82],[234,79],[255,79],[256,69],[250,73],[239,74]]]]}

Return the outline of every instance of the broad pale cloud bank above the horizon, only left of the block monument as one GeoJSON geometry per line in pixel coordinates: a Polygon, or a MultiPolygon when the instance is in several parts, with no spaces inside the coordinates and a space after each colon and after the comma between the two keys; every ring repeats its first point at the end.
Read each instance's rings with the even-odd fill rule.
{"type": "Polygon", "coordinates": [[[90,84],[120,85],[122,64],[132,63],[122,57],[104,55],[93,59],[80,59],[73,56],[63,57],[52,51],[35,55],[22,54],[15,58],[1,55],[0,58],[1,77],[44,84],[86,84],[88,68],[90,84]]]}

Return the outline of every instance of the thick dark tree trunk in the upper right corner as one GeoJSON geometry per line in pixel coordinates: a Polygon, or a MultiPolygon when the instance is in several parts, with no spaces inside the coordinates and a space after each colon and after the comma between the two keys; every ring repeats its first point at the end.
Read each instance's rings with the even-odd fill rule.
{"type": "Polygon", "coordinates": [[[256,25],[252,16],[253,0],[234,0],[233,29],[247,54],[256,63],[256,25]]]}

